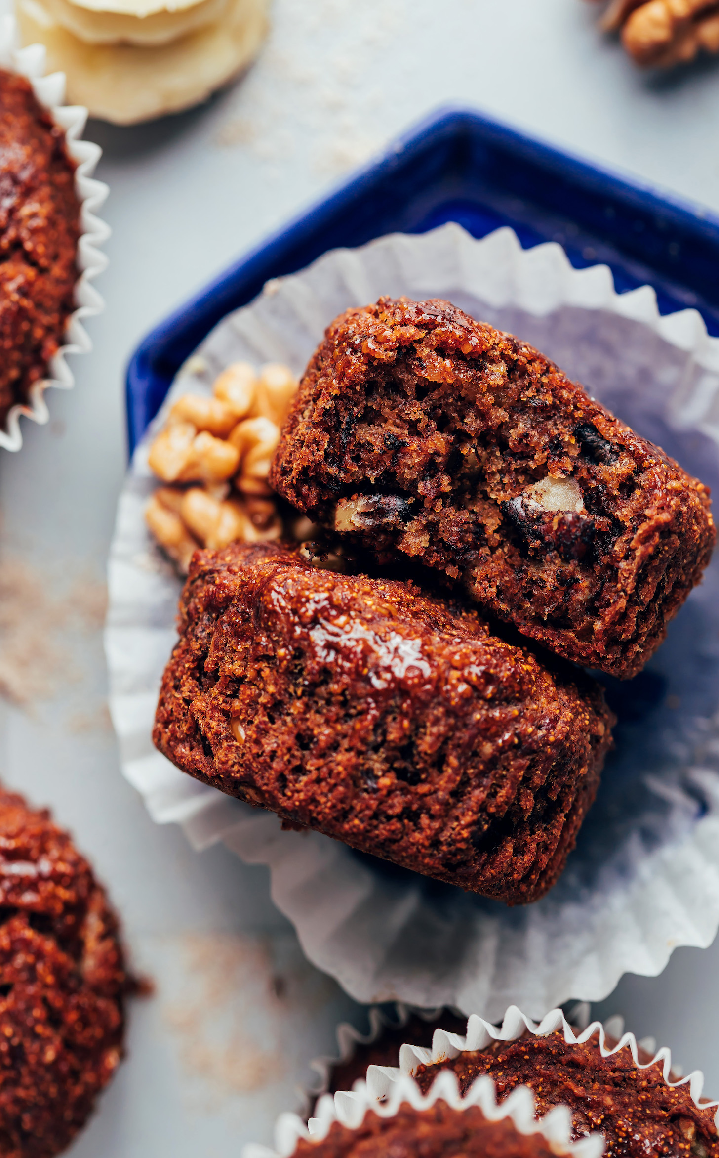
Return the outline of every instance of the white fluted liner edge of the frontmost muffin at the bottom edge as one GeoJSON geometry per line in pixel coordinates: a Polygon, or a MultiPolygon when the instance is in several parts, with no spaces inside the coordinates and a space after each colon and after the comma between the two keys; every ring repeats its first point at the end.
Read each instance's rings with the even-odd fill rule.
{"type": "Polygon", "coordinates": [[[446,1101],[458,1111],[478,1106],[490,1122],[508,1117],[520,1134],[541,1134],[549,1148],[558,1155],[600,1158],[604,1149],[601,1134],[589,1134],[578,1142],[571,1141],[572,1119],[566,1106],[555,1106],[544,1117],[535,1117],[534,1094],[527,1086],[518,1086],[498,1105],[494,1083],[486,1076],[477,1078],[462,1098],[457,1079],[449,1070],[438,1075],[426,1095],[420,1092],[412,1077],[396,1071],[387,1082],[387,1097],[382,1104],[376,1101],[361,1082],[355,1083],[352,1091],[337,1092],[335,1097],[324,1094],[317,1104],[316,1116],[310,1117],[307,1126],[296,1114],[280,1114],[274,1127],[274,1149],[250,1143],[243,1148],[242,1158],[291,1158],[300,1138],[321,1142],[333,1122],[355,1130],[362,1124],[368,1109],[379,1117],[395,1117],[402,1105],[409,1102],[414,1109],[423,1111],[435,1101],[446,1101]]]}

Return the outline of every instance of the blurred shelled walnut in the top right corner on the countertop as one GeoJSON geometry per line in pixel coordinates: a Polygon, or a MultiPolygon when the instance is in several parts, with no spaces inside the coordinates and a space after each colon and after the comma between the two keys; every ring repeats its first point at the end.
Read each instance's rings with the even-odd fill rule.
{"type": "MultiPolygon", "coordinates": [[[[596,2],[596,0],[595,0],[596,2]]],[[[654,68],[719,52],[718,0],[611,0],[601,21],[637,64],[654,68]]]]}

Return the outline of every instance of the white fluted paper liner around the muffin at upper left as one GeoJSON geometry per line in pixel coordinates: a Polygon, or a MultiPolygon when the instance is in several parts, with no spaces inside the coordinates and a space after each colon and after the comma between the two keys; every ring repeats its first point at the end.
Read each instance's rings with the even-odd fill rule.
{"type": "Polygon", "coordinates": [[[30,389],[28,404],[19,404],[10,409],[5,430],[0,428],[0,447],[6,450],[20,450],[22,433],[20,417],[31,418],[41,425],[50,415],[44,400],[44,391],[51,387],[69,390],[74,376],[66,362],[67,354],[87,353],[93,349],[82,320],[98,314],[104,302],[95,287],[93,278],[97,277],[108,264],[107,256],[97,248],[110,236],[110,229],[96,217],[96,211],[104,203],[109,189],[102,181],[95,181],[93,173],[102,155],[98,145],[80,140],[87,122],[87,109],[81,105],[63,104],[65,100],[65,73],[52,73],[45,76],[45,46],[30,44],[19,47],[15,17],[0,15],[0,68],[25,76],[32,86],[35,97],[47,110],[56,125],[65,131],[67,155],[76,164],[75,192],[80,201],[80,239],[78,241],[78,269],[80,277],[75,284],[75,302],[78,308],[69,315],[65,325],[65,342],[50,360],[47,369],[50,378],[35,382],[30,389]]]}

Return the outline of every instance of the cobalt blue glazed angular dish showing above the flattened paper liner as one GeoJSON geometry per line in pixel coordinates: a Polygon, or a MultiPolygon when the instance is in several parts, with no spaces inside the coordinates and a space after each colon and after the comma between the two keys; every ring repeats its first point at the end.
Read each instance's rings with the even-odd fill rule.
{"type": "MultiPolygon", "coordinates": [[[[667,252],[660,255],[665,265],[667,254],[669,257],[673,255],[673,247],[677,250],[675,255],[677,261],[674,263],[675,278],[667,279],[661,271],[654,271],[655,276],[652,276],[652,266],[643,264],[626,249],[615,250],[619,261],[612,262],[612,252],[610,250],[602,252],[601,243],[597,248],[585,245],[584,250],[579,247],[572,249],[566,243],[563,248],[572,264],[578,267],[600,264],[604,258],[612,270],[618,292],[641,284],[652,285],[658,293],[660,313],[673,313],[688,307],[697,308],[707,324],[709,332],[719,335],[719,277],[716,303],[707,302],[696,288],[697,280],[706,278],[698,278],[697,269],[694,270],[692,277],[689,263],[681,254],[682,247],[699,255],[700,261],[700,255],[705,254],[706,259],[703,264],[709,263],[711,269],[716,262],[716,269],[719,270],[719,217],[688,199],[645,184],[628,174],[594,164],[486,117],[477,110],[442,107],[390,142],[379,157],[355,170],[328,196],[244,254],[140,342],[130,360],[126,375],[130,454],[160,409],[175,374],[214,325],[234,309],[254,300],[271,278],[296,272],[328,249],[342,245],[342,234],[352,229],[352,215],[357,218],[358,213],[361,214],[362,206],[368,205],[373,196],[391,190],[392,182],[398,182],[412,164],[421,163],[424,159],[431,160],[433,153],[439,155],[442,148],[452,149],[453,142],[457,147],[464,144],[470,151],[472,145],[479,151],[484,148],[486,155],[494,151],[500,160],[509,159],[509,163],[516,167],[520,179],[523,167],[527,174],[543,175],[548,189],[549,182],[553,181],[555,188],[566,196],[584,197],[585,206],[592,207],[595,203],[596,205],[604,203],[604,214],[611,212],[610,222],[619,217],[621,223],[633,227],[637,234],[646,230],[647,223],[650,230],[654,226],[656,236],[662,235],[659,236],[660,248],[662,241],[666,242],[667,252]],[[638,228],[639,226],[641,228],[638,228]],[[333,243],[336,235],[339,235],[338,243],[337,241],[333,243]],[[329,243],[323,245],[324,239],[328,239],[329,243]],[[626,284],[622,284],[623,281],[626,284]]],[[[424,192],[428,197],[434,189],[441,197],[441,176],[435,177],[427,184],[426,190],[419,188],[417,192],[420,196],[424,192]]],[[[498,186],[497,184],[492,186],[490,182],[487,188],[491,190],[498,186]]],[[[471,189],[471,183],[468,189],[471,189]]],[[[501,190],[498,196],[501,198],[501,190]]],[[[445,199],[452,203],[449,190],[445,199]]],[[[516,210],[508,204],[504,222],[498,219],[496,225],[506,223],[514,227],[524,248],[548,240],[559,240],[562,243],[560,235],[533,237],[524,222],[513,219],[513,212],[516,210]]],[[[397,217],[397,211],[394,215],[397,217]]],[[[358,236],[355,244],[364,244],[386,233],[403,232],[391,228],[391,222],[388,228],[389,218],[390,214],[387,213],[374,217],[369,234],[365,230],[358,236]]],[[[442,223],[443,220],[453,219],[455,218],[442,218],[441,211],[439,217],[433,217],[430,211],[424,221],[413,228],[410,225],[404,232],[423,233],[442,223]]],[[[570,213],[566,214],[566,220],[570,221],[568,228],[571,228],[570,213]]],[[[464,221],[460,223],[467,227],[464,221]]],[[[474,233],[471,225],[470,232],[474,233]]],[[[606,232],[611,235],[611,225],[606,232]]],[[[474,235],[483,234],[474,233],[474,235]]],[[[586,235],[589,236],[588,233],[586,235]]],[[[578,229],[578,237],[581,240],[581,229],[578,229]]],[[[696,266],[696,258],[694,264],[696,266]]]]}

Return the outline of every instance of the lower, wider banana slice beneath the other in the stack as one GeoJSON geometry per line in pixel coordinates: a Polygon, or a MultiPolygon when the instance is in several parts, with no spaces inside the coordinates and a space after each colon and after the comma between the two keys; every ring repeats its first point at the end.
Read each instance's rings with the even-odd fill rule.
{"type": "Polygon", "coordinates": [[[87,44],[54,19],[45,0],[19,0],[17,24],[23,45],[45,45],[47,72],[67,74],[69,103],[131,125],[198,104],[250,64],[267,34],[269,0],[226,5],[220,20],[144,47],[87,44]]]}

